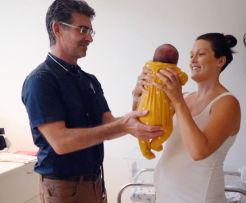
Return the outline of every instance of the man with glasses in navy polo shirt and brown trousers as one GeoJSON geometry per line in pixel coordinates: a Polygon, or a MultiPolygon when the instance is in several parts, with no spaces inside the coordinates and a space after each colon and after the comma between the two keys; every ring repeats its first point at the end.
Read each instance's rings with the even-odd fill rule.
{"type": "Polygon", "coordinates": [[[80,69],[93,41],[94,10],[82,0],[55,0],[46,14],[50,53],[23,84],[34,143],[41,202],[107,202],[103,141],[125,134],[151,139],[160,127],[145,126],[131,112],[114,118],[94,75],[80,69]]]}

